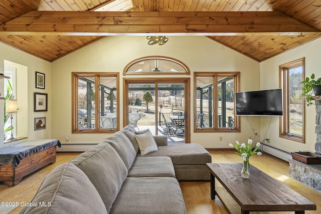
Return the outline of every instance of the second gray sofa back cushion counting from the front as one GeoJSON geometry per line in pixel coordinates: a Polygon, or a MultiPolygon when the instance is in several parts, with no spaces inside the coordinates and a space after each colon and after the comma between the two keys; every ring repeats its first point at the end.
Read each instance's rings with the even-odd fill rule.
{"type": "Polygon", "coordinates": [[[85,172],[109,212],[128,173],[117,151],[109,143],[100,143],[70,162],[85,172]]]}

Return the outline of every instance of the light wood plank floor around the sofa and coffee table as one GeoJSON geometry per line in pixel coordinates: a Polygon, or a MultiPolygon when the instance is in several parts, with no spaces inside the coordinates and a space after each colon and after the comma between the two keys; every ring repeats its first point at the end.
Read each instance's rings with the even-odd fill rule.
{"type": "MultiPolygon", "coordinates": [[[[213,163],[241,162],[241,157],[233,151],[210,151],[213,163]]],[[[36,172],[26,176],[14,187],[7,187],[0,183],[0,201],[29,202],[38,190],[44,177],[56,166],[71,160],[78,153],[57,153],[57,161],[54,164],[43,167],[36,172]]],[[[321,213],[321,193],[290,178],[288,176],[288,163],[268,154],[252,156],[250,163],[271,177],[279,180],[295,191],[316,203],[317,210],[306,210],[305,213],[321,213]]],[[[229,213],[219,199],[210,199],[210,182],[180,182],[185,204],[189,214],[204,213],[229,213]]],[[[18,207],[10,213],[18,213],[22,207],[18,207]]],[[[1,207],[0,207],[0,213],[1,207]]],[[[271,213],[294,213],[292,212],[271,212],[271,213]]]]}

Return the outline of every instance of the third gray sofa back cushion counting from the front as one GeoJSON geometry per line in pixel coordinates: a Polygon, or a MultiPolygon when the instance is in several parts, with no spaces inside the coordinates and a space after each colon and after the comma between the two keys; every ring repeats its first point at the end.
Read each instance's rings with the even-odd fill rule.
{"type": "Polygon", "coordinates": [[[137,152],[128,137],[126,137],[124,133],[118,131],[105,139],[104,142],[109,143],[117,151],[122,161],[124,161],[127,170],[130,169],[137,152]]]}

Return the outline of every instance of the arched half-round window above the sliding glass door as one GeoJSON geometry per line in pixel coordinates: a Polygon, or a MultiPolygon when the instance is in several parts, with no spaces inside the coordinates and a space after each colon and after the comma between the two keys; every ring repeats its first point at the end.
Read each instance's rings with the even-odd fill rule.
{"type": "Polygon", "coordinates": [[[131,61],[123,75],[190,74],[188,67],[169,57],[150,56],[131,61]]]}

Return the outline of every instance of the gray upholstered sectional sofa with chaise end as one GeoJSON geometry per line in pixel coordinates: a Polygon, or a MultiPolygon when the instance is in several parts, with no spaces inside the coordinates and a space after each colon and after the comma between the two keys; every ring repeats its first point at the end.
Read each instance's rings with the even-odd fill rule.
{"type": "Polygon", "coordinates": [[[57,166],[20,213],[186,213],[177,178],[209,180],[211,160],[199,144],[126,126],[57,166]]]}

